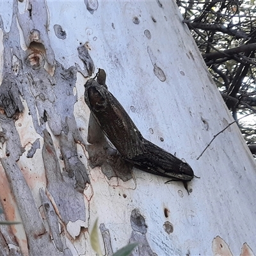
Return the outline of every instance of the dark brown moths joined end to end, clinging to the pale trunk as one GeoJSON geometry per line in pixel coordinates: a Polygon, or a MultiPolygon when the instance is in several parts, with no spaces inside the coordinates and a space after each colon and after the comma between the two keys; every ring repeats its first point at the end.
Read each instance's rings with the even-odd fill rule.
{"type": "Polygon", "coordinates": [[[192,180],[195,175],[188,163],[143,138],[120,102],[109,92],[106,72],[99,69],[96,77],[97,81],[92,78],[84,84],[84,100],[121,156],[145,172],[185,183],[192,180]]]}

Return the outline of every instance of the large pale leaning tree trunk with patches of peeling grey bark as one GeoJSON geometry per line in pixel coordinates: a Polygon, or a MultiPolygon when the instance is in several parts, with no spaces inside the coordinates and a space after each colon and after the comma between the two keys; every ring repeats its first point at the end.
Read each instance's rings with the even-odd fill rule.
{"type": "Polygon", "coordinates": [[[0,3],[1,255],[253,255],[255,161],[174,1],[0,3]],[[12,17],[12,19],[10,19],[12,17]],[[90,117],[98,68],[143,136],[200,179],[132,168],[90,117]],[[88,129],[89,127],[89,129],[88,129]],[[89,143],[90,142],[90,143],[89,143]],[[199,157],[199,159],[198,159],[199,157]]]}

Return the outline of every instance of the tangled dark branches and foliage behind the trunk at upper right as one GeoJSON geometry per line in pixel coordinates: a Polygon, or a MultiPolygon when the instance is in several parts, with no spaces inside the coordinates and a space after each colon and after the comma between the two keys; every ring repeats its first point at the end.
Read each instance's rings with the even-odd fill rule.
{"type": "MultiPolygon", "coordinates": [[[[255,1],[177,0],[177,4],[234,119],[256,113],[255,1]]],[[[255,120],[237,122],[248,145],[256,145],[255,120]]]]}

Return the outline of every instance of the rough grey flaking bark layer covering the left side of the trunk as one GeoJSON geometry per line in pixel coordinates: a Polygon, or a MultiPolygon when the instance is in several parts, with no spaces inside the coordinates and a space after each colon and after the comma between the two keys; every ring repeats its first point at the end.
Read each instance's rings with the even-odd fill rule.
{"type": "MultiPolygon", "coordinates": [[[[64,233],[71,237],[68,234],[68,223],[79,220],[81,226],[85,227],[83,191],[86,184],[90,183],[86,167],[77,156],[77,143],[84,144],[74,118],[77,67],[64,68],[55,60],[48,36],[49,17],[45,1],[30,1],[28,9],[22,14],[18,11],[18,3],[13,1],[9,32],[4,31],[0,17],[4,47],[1,70],[3,80],[0,86],[1,168],[19,209],[29,254],[72,255],[67,244],[63,243],[63,237],[64,233]],[[23,39],[20,39],[17,23],[23,39]],[[20,45],[22,40],[27,47],[25,50],[20,45]],[[25,115],[22,102],[28,106],[28,115],[38,133],[38,139],[31,141],[32,147],[26,156],[31,158],[36,149],[42,148],[47,186],[40,191],[29,187],[19,167],[20,156],[25,150],[15,122],[25,115]],[[61,159],[65,166],[63,170],[49,132],[60,145],[61,159]],[[42,139],[44,145],[40,145],[42,139]],[[36,205],[34,198],[39,193],[44,211],[38,210],[40,205],[36,205]]],[[[77,55],[84,63],[83,75],[92,75],[94,65],[86,46],[78,44],[77,55]]],[[[10,206],[6,204],[3,208],[8,209],[10,206]]],[[[1,255],[20,255],[19,242],[11,231],[0,227],[1,255]]]]}

